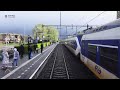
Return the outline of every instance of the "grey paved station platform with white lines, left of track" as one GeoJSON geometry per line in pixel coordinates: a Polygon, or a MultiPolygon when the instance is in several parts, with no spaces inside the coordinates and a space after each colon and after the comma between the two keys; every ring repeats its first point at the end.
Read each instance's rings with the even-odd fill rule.
{"type": "Polygon", "coordinates": [[[33,58],[30,60],[28,60],[28,56],[26,55],[22,60],[18,61],[19,66],[17,68],[9,68],[6,71],[0,69],[0,78],[1,79],[32,78],[32,76],[35,73],[35,70],[44,63],[45,58],[52,52],[55,46],[56,44],[44,48],[43,53],[33,54],[33,58]]]}

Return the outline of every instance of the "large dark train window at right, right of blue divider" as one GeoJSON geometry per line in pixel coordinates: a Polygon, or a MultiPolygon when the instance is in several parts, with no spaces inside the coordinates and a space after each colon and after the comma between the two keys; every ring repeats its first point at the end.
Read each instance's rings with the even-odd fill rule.
{"type": "Polygon", "coordinates": [[[111,73],[117,74],[118,49],[100,47],[100,64],[111,73]]]}

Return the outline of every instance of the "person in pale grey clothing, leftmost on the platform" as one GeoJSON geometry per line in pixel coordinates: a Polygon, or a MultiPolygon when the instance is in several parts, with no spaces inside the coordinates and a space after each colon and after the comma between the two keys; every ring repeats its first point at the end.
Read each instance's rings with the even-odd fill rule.
{"type": "Polygon", "coordinates": [[[7,68],[9,64],[9,55],[6,49],[3,49],[2,52],[2,68],[7,68]]]}

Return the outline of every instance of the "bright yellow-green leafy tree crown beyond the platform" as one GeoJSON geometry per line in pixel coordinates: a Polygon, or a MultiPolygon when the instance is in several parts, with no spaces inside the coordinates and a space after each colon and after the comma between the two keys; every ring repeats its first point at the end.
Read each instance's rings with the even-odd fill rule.
{"type": "Polygon", "coordinates": [[[50,26],[46,27],[42,24],[38,24],[33,28],[33,36],[34,38],[39,37],[40,39],[43,40],[56,42],[58,41],[59,33],[58,30],[54,27],[50,27],[50,26]]]}

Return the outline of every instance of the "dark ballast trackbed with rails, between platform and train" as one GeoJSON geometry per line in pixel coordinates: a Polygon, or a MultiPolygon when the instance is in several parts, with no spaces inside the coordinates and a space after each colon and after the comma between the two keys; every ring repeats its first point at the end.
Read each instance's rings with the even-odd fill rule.
{"type": "Polygon", "coordinates": [[[89,79],[94,75],[68,49],[58,44],[37,79],[89,79]]]}

